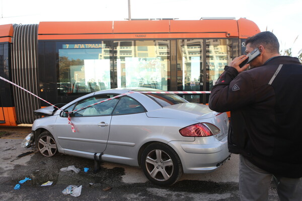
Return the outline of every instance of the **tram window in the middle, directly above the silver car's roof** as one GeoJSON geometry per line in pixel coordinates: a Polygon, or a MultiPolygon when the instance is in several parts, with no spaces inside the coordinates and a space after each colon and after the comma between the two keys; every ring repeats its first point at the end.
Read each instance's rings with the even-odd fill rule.
{"type": "Polygon", "coordinates": [[[168,90],[170,41],[114,41],[117,87],[168,90]]]}

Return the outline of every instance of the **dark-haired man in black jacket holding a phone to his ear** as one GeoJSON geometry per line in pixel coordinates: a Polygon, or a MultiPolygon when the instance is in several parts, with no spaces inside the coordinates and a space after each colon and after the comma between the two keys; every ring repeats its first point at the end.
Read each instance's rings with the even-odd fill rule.
{"type": "Polygon", "coordinates": [[[246,40],[246,53],[235,58],[212,88],[209,108],[231,111],[229,151],[240,154],[241,200],[268,200],[273,179],[283,200],[302,200],[302,65],[280,56],[271,32],[246,40]],[[256,50],[255,50],[256,52],[256,50]],[[249,68],[249,70],[246,70],[249,68]]]}

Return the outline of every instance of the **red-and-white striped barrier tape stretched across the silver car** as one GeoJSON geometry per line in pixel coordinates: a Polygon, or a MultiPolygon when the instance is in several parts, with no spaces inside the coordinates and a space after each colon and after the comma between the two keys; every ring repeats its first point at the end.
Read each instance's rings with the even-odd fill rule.
{"type": "MultiPolygon", "coordinates": [[[[10,84],[13,84],[14,86],[17,86],[17,87],[21,88],[22,90],[24,90],[24,91],[30,93],[31,95],[33,95],[33,96],[35,96],[35,97],[37,97],[37,98],[43,100],[45,103],[47,103],[47,104],[49,104],[49,105],[51,105],[51,106],[57,108],[57,109],[60,110],[60,111],[63,111],[62,109],[60,109],[60,108],[56,107],[55,105],[49,103],[47,100],[45,100],[45,99],[39,97],[38,95],[36,95],[36,94],[30,92],[29,90],[23,88],[22,86],[19,86],[18,84],[15,84],[14,82],[12,82],[12,81],[10,81],[10,80],[8,80],[8,79],[2,77],[2,76],[0,76],[0,79],[4,80],[4,81],[6,81],[6,82],[9,82],[10,84]]],[[[71,113],[79,112],[80,110],[84,110],[84,109],[89,108],[89,107],[91,107],[91,106],[95,106],[95,105],[97,105],[97,104],[104,103],[104,102],[106,102],[106,101],[108,101],[108,100],[112,100],[112,99],[114,99],[114,98],[121,97],[121,96],[124,96],[124,95],[128,95],[128,94],[131,94],[131,93],[205,94],[205,93],[211,93],[211,91],[129,91],[129,92],[126,92],[126,93],[121,93],[121,94],[116,95],[116,96],[113,96],[113,97],[111,97],[111,98],[107,98],[107,99],[102,100],[102,101],[100,101],[100,102],[94,103],[94,104],[92,104],[92,105],[90,105],[90,106],[86,106],[86,107],[83,107],[83,108],[80,108],[80,109],[77,109],[77,110],[68,112],[68,118],[67,118],[67,119],[68,119],[68,124],[71,126],[72,132],[75,133],[75,128],[74,128],[74,125],[71,123],[71,117],[70,117],[70,114],[71,114],[71,113]]]]}

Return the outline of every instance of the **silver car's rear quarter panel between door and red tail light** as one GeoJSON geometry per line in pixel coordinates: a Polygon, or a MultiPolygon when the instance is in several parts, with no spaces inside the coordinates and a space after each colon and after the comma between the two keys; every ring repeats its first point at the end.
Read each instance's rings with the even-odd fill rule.
{"type": "MultiPolygon", "coordinates": [[[[195,123],[193,121],[147,118],[145,113],[127,116],[129,117],[126,119],[123,115],[112,116],[110,135],[105,151],[105,154],[108,155],[131,158],[131,160],[123,161],[122,163],[138,166],[138,150],[142,145],[148,142],[163,142],[168,144],[172,140],[183,142],[195,140],[194,137],[184,137],[179,133],[179,129],[188,124],[195,123]],[[136,121],[133,121],[133,119],[136,121]],[[163,135],[163,133],[165,133],[165,135],[163,135]],[[120,146],[116,144],[117,142],[134,143],[135,145],[132,147],[120,146]]],[[[120,163],[121,161],[116,161],[116,158],[113,158],[110,162],[120,163]]]]}

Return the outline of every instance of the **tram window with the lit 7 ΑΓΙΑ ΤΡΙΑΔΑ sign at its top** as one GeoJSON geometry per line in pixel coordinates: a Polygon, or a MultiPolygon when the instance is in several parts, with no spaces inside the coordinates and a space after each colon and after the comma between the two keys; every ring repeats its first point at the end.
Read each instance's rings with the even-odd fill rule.
{"type": "Polygon", "coordinates": [[[58,94],[81,94],[110,89],[112,43],[57,42],[58,94]]]}

